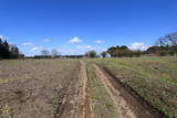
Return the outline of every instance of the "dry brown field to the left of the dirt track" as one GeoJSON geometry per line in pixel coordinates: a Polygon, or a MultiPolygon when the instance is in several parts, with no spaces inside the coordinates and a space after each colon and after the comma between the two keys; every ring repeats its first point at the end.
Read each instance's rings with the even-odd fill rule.
{"type": "Polygon", "coordinates": [[[79,72],[73,60],[0,61],[0,118],[53,118],[79,72]]]}

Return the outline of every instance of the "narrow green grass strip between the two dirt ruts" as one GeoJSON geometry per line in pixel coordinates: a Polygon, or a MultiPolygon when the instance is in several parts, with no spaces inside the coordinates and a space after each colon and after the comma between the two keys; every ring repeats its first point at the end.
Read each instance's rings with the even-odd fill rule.
{"type": "Polygon", "coordinates": [[[113,101],[104,85],[95,74],[94,67],[88,65],[88,86],[95,118],[117,118],[113,101]]]}

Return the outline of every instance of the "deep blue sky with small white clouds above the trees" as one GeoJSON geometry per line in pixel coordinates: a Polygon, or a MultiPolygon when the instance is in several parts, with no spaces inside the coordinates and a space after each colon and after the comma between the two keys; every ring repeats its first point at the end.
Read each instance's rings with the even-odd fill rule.
{"type": "Polygon", "coordinates": [[[146,49],[177,31],[177,0],[0,0],[0,36],[27,55],[146,49]]]}

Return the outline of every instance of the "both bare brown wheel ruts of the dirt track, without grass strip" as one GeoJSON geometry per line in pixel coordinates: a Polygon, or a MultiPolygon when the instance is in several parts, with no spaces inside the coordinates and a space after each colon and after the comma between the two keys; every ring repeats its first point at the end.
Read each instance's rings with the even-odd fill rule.
{"type": "MultiPolygon", "coordinates": [[[[117,118],[158,118],[136,98],[119,86],[106,72],[93,64],[97,79],[101,79],[117,111],[117,118]]],[[[94,118],[92,97],[88,93],[87,71],[85,63],[80,62],[80,75],[69,87],[63,100],[64,110],[59,118],[94,118]]]]}

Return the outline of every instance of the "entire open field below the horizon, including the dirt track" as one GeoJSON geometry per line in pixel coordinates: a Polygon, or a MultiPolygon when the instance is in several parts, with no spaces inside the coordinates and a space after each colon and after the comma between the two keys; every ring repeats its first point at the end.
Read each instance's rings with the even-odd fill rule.
{"type": "Polygon", "coordinates": [[[177,57],[0,61],[0,118],[177,115],[177,57]]]}

